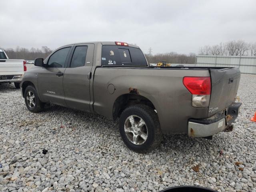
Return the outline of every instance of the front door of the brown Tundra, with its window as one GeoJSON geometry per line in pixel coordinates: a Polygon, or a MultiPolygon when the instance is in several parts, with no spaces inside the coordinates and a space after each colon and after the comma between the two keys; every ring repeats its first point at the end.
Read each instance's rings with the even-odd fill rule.
{"type": "Polygon", "coordinates": [[[47,59],[46,67],[38,70],[38,91],[43,102],[66,106],[63,75],[72,46],[56,50],[47,59]]]}

